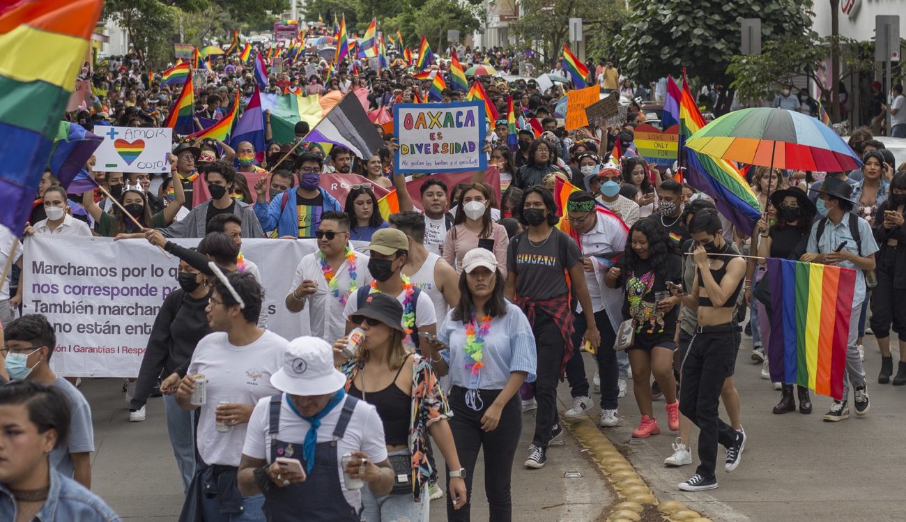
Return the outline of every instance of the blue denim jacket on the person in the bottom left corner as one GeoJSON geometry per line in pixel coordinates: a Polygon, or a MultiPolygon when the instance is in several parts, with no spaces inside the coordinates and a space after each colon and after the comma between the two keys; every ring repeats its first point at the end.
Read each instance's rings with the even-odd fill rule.
{"type": "MultiPolygon", "coordinates": [[[[0,483],[0,520],[15,520],[13,493],[0,483]]],[[[51,489],[34,521],[40,522],[120,522],[120,517],[101,500],[72,478],[51,468],[51,489]]]]}

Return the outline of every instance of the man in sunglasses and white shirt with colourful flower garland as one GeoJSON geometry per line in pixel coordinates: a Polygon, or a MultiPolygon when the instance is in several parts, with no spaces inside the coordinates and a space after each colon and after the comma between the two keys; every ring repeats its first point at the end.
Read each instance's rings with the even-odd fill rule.
{"type": "Polygon", "coordinates": [[[325,211],[314,237],[318,251],[299,261],[284,304],[294,314],[307,305],[312,334],[333,343],[346,334],[343,311],[350,295],[371,284],[369,259],[349,244],[349,217],[343,212],[325,211]]]}

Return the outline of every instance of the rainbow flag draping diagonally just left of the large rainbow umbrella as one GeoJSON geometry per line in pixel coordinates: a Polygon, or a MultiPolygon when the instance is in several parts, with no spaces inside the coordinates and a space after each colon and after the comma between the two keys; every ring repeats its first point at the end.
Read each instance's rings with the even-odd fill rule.
{"type": "MultiPolygon", "coordinates": [[[[670,83],[674,83],[672,92],[679,91],[672,78],[668,77],[667,82],[668,95],[671,92],[670,83]]],[[[685,169],[683,176],[693,188],[708,194],[720,213],[741,233],[751,236],[755,224],[761,218],[761,205],[739,169],[728,160],[711,158],[686,147],[689,136],[704,126],[705,119],[701,117],[695,97],[689,91],[684,71],[679,100],[678,145],[679,165],[685,169]]]]}

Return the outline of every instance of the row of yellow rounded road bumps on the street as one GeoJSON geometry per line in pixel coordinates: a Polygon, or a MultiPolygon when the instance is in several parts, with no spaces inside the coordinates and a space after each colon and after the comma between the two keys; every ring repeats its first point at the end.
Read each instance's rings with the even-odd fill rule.
{"type": "Polygon", "coordinates": [[[670,522],[712,522],[682,502],[672,499],[660,501],[630,461],[622,456],[611,440],[588,417],[565,419],[564,423],[579,444],[588,449],[604,478],[612,482],[617,495],[623,499],[613,507],[612,513],[607,517],[608,522],[641,520],[646,506],[656,507],[664,519],[670,522]]]}

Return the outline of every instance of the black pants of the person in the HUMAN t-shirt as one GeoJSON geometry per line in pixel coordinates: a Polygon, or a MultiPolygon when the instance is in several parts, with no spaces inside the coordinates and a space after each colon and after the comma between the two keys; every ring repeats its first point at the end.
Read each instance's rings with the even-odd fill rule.
{"type": "Polygon", "coordinates": [[[564,339],[554,318],[541,310],[535,312],[535,349],[538,366],[535,371],[535,436],[532,444],[547,448],[557,423],[557,382],[560,380],[560,362],[564,358],[564,339]]]}

